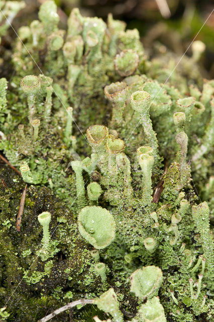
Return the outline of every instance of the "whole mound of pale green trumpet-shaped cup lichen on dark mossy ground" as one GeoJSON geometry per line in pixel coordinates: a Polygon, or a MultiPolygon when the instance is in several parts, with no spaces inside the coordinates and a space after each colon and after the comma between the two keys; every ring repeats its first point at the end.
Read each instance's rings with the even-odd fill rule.
{"type": "Polygon", "coordinates": [[[65,32],[46,1],[39,19],[18,31],[16,72],[0,79],[0,148],[22,175],[1,168],[0,316],[38,320],[95,298],[97,313],[75,322],[101,310],[115,322],[211,320],[214,81],[192,76],[203,44],[162,84],[165,57],[150,61],[111,15],[75,9],[65,32]]]}

